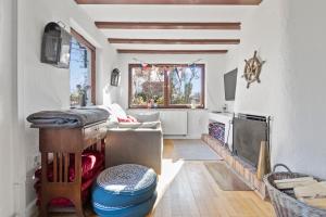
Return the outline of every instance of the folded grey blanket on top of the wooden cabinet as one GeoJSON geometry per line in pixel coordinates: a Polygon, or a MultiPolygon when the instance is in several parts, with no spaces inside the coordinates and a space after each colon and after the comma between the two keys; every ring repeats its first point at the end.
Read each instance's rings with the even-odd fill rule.
{"type": "Polygon", "coordinates": [[[99,107],[42,111],[27,117],[33,128],[75,128],[106,120],[109,112],[99,107]]]}

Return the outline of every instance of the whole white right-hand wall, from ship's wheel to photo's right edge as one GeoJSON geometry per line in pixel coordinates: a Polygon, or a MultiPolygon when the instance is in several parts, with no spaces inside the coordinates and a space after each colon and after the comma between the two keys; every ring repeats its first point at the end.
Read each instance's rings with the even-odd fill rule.
{"type": "MultiPolygon", "coordinates": [[[[271,115],[272,164],[326,178],[326,2],[265,0],[242,23],[236,113],[271,115]],[[261,84],[247,84],[244,59],[266,61],[261,84]]],[[[233,58],[228,56],[233,63],[233,58]]],[[[228,63],[227,63],[228,65],[228,63]]]]}

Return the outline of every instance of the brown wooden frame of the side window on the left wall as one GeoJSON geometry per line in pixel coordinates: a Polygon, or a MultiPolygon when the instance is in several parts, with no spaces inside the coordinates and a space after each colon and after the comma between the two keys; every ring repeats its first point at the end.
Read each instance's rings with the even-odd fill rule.
{"type": "Polygon", "coordinates": [[[91,44],[84,36],[82,36],[78,31],[76,31],[74,28],[71,28],[72,36],[83,46],[87,47],[90,50],[90,61],[91,61],[91,67],[90,67],[90,92],[91,92],[91,103],[96,105],[97,102],[97,67],[96,67],[96,61],[97,61],[97,48],[91,44]]]}

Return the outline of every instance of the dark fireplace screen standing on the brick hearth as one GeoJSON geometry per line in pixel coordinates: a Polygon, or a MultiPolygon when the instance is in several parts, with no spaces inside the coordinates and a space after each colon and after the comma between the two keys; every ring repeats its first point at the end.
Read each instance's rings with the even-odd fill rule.
{"type": "Polygon", "coordinates": [[[234,118],[233,153],[256,168],[262,141],[268,144],[268,118],[238,114],[234,118]]]}

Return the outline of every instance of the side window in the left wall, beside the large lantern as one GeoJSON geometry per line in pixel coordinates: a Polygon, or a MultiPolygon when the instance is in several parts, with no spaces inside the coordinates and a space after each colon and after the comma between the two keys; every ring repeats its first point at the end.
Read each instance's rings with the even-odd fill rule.
{"type": "Polygon", "coordinates": [[[86,103],[96,104],[96,48],[72,29],[70,87],[71,105],[80,105],[82,93],[86,103]]]}

